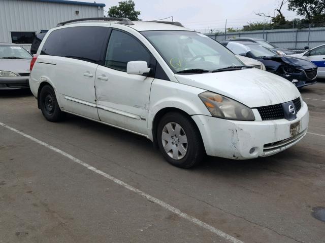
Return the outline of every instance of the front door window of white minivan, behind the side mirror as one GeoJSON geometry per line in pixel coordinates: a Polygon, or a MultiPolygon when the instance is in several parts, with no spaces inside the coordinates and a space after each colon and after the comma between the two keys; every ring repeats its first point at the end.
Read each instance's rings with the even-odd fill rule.
{"type": "Polygon", "coordinates": [[[105,66],[126,72],[127,62],[146,61],[150,67],[150,53],[131,35],[112,30],[105,66]]]}

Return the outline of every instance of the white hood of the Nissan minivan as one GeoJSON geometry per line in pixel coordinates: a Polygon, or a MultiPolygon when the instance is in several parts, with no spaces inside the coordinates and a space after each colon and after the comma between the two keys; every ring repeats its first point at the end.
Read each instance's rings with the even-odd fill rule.
{"type": "Polygon", "coordinates": [[[175,74],[175,77],[181,84],[228,96],[251,108],[280,104],[300,96],[296,86],[288,80],[257,68],[191,75],[175,74]]]}

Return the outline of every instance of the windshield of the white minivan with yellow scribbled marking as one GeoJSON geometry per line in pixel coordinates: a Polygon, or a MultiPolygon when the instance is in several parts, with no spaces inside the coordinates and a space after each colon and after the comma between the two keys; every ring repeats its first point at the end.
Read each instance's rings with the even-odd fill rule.
{"type": "Polygon", "coordinates": [[[231,51],[201,33],[172,30],[141,33],[175,73],[190,69],[213,71],[244,65],[231,51]]]}

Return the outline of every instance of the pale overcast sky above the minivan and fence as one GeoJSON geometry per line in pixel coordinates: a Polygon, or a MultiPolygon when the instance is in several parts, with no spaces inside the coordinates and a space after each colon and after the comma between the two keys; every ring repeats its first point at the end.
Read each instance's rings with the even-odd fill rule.
{"type": "MultiPolygon", "coordinates": [[[[80,2],[93,2],[77,0],[80,2]]],[[[118,5],[122,0],[96,0],[96,3],[110,7],[118,5]]],[[[265,13],[274,16],[274,8],[280,0],[134,0],[137,11],[141,11],[139,19],[156,20],[173,16],[174,21],[181,22],[185,27],[205,30],[224,29],[227,27],[242,28],[248,22],[269,21],[270,18],[259,17],[255,13],[265,13]]],[[[296,13],[282,7],[282,13],[287,20],[296,18],[296,13]]],[[[170,19],[167,19],[171,20],[170,19]]]]}

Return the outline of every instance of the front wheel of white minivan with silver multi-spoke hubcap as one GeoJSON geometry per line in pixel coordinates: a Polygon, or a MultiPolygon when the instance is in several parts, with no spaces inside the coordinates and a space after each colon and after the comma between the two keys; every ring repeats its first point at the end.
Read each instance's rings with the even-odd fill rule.
{"type": "Polygon", "coordinates": [[[199,129],[190,117],[179,112],[169,112],[160,119],[157,142],[165,159],[176,167],[197,166],[206,156],[199,129]]]}

